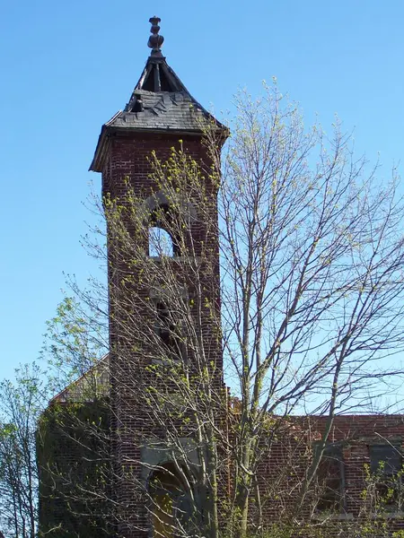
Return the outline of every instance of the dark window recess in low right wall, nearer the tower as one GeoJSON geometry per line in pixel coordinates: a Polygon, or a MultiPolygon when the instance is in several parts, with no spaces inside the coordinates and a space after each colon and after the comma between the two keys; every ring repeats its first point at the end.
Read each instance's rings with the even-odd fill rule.
{"type": "MultiPolygon", "coordinates": [[[[314,453],[320,449],[320,444],[316,445],[314,453]]],[[[339,512],[344,508],[345,469],[340,445],[329,443],[324,447],[317,471],[317,488],[317,511],[339,512]]]]}

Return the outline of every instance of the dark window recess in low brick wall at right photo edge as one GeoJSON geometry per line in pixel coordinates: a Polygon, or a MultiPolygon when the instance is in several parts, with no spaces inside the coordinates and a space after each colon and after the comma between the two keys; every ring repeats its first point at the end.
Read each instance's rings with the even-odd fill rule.
{"type": "Polygon", "coordinates": [[[402,451],[400,445],[371,445],[370,470],[375,477],[376,508],[387,511],[402,509],[402,451]]]}

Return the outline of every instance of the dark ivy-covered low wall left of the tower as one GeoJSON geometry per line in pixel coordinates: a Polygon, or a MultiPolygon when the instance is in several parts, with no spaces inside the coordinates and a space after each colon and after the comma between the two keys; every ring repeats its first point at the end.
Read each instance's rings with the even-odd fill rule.
{"type": "Polygon", "coordinates": [[[107,537],[110,406],[106,400],[52,404],[40,418],[39,532],[49,538],[107,537]]]}

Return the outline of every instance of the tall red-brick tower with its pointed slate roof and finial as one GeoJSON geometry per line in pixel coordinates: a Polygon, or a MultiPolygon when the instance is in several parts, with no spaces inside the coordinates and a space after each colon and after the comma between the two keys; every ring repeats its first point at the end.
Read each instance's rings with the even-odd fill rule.
{"type": "MultiPolygon", "coordinates": [[[[152,48],[151,55],[126,108],[102,126],[90,169],[101,172],[103,199],[108,199],[110,204],[119,200],[120,209],[124,208],[123,215],[130,214],[134,206],[135,212],[142,211],[145,215],[143,223],[146,229],[157,229],[157,232],[162,233],[164,228],[167,229],[165,224],[171,222],[171,253],[164,256],[163,263],[169,264],[166,265],[166,273],[178,274],[179,293],[187,302],[195,326],[199,327],[202,349],[199,349],[198,353],[205,358],[206,365],[209,365],[209,390],[213,386],[219,394],[224,385],[220,329],[217,327],[220,320],[217,182],[202,179],[203,199],[208,200],[202,211],[199,205],[199,202],[202,203],[201,193],[193,192],[195,182],[192,186],[187,185],[187,182],[174,185],[173,192],[178,196],[173,201],[172,195],[166,192],[156,178],[155,163],[167,161],[174,148],[183,152],[180,153],[182,156],[186,155],[192,162],[197,163],[202,173],[206,172],[204,177],[207,178],[212,161],[203,142],[203,122],[214,125],[219,149],[227,131],[189,94],[180,78],[167,64],[161,51],[163,38],[159,34],[160,19],[152,17],[150,22],[152,35],[148,46],[152,48]],[[153,153],[158,161],[154,161],[153,153]],[[187,202],[184,202],[185,199],[187,202]],[[182,200],[180,204],[187,205],[188,212],[188,230],[186,239],[182,240],[182,246],[179,240],[174,238],[175,232],[172,231],[171,211],[174,211],[174,205],[179,206],[179,200],[182,200]],[[140,207],[142,209],[139,209],[140,207]],[[206,252],[210,253],[209,263],[208,267],[206,265],[203,269],[201,265],[204,265],[204,262],[200,260],[206,256],[206,252]],[[171,259],[168,259],[170,257],[171,259]],[[195,263],[197,258],[199,265],[195,263]],[[195,275],[190,274],[190,267],[193,266],[197,267],[198,271],[197,286],[194,286],[195,275]],[[205,308],[200,308],[202,302],[205,308]]],[[[177,157],[181,159],[179,153],[177,157]]],[[[201,365],[200,359],[198,368],[193,364],[198,354],[195,346],[190,349],[183,344],[185,337],[181,337],[182,342],[178,344],[179,337],[173,335],[175,331],[172,327],[178,327],[180,324],[178,319],[172,319],[174,316],[170,312],[170,305],[167,306],[167,303],[170,303],[167,296],[172,293],[172,282],[171,291],[167,291],[167,282],[159,282],[159,279],[162,280],[162,273],[159,273],[158,264],[162,264],[162,260],[158,259],[159,253],[152,253],[152,247],[147,245],[149,231],[135,231],[136,227],[129,222],[129,217],[123,216],[122,219],[127,238],[119,242],[116,232],[112,231],[107,211],[113,432],[111,456],[115,468],[113,496],[116,506],[119,507],[116,525],[119,536],[126,538],[172,536],[171,523],[175,517],[187,519],[190,516],[187,515],[188,508],[183,508],[187,505],[183,491],[180,495],[172,494],[171,499],[167,491],[172,493],[173,490],[182,488],[182,485],[179,486],[182,479],[177,476],[177,471],[182,473],[183,477],[186,476],[189,473],[189,462],[193,462],[195,469],[198,469],[201,464],[200,455],[206,453],[206,447],[201,447],[200,444],[198,446],[194,433],[187,434],[185,430],[181,430],[182,426],[178,420],[177,423],[173,421],[171,430],[169,427],[164,430],[159,423],[164,421],[162,417],[154,415],[154,409],[146,409],[145,402],[150,401],[145,397],[145,392],[147,386],[153,386],[155,383],[157,367],[165,368],[167,374],[164,394],[172,396],[177,391],[176,402],[186,398],[180,394],[178,386],[175,386],[175,377],[171,375],[171,370],[167,370],[171,365],[180,369],[178,361],[165,363],[163,359],[156,359],[154,343],[158,342],[154,338],[162,341],[162,346],[169,350],[168,353],[176,346],[175,352],[182,353],[182,362],[188,365],[187,375],[193,379],[192,382],[198,383],[198,386],[201,384],[201,365]],[[137,265],[131,265],[127,259],[132,257],[129,252],[131,248],[136,251],[137,265]],[[139,250],[142,249],[145,262],[142,262],[142,253],[139,255],[139,250]],[[154,256],[156,254],[157,256],[154,256]],[[142,263],[148,264],[153,274],[144,277],[145,267],[138,269],[142,263]],[[165,294],[164,297],[162,294],[165,294]],[[174,341],[176,343],[173,346],[174,341]],[[177,446],[175,439],[173,443],[169,442],[170,438],[172,441],[173,435],[182,436],[177,446]],[[188,465],[185,465],[188,470],[183,470],[182,467],[185,459],[188,460],[188,465]],[[154,493],[151,492],[152,482],[158,483],[158,486],[154,486],[154,493]],[[162,491],[164,483],[168,485],[162,491]],[[177,506],[179,503],[182,503],[182,508],[177,506]],[[160,506],[161,504],[163,506],[160,506]]],[[[182,223],[181,228],[184,227],[182,223]]],[[[170,280],[168,276],[167,280],[170,280]]],[[[178,304],[178,298],[176,299],[178,304]]],[[[186,407],[185,403],[183,405],[186,407]]],[[[188,488],[198,489],[198,478],[193,476],[187,480],[188,488]]],[[[203,512],[203,492],[199,491],[198,495],[200,512],[203,512]]]]}

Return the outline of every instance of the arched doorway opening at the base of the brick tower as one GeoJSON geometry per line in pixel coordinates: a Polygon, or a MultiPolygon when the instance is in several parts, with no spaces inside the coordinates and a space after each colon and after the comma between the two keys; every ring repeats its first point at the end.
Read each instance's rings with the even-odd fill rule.
{"type": "Polygon", "coordinates": [[[186,532],[192,520],[192,502],[172,463],[164,464],[150,476],[153,535],[174,538],[186,532]]]}

